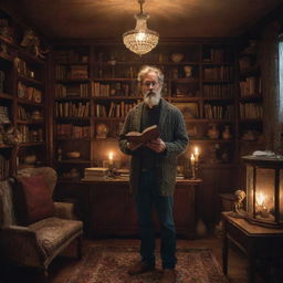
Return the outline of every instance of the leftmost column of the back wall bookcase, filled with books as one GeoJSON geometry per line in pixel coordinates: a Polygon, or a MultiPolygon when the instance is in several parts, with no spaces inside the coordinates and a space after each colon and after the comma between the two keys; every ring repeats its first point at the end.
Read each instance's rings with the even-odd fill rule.
{"type": "Polygon", "coordinates": [[[92,160],[90,48],[59,49],[54,61],[54,166],[61,176],[82,175],[92,160]]]}

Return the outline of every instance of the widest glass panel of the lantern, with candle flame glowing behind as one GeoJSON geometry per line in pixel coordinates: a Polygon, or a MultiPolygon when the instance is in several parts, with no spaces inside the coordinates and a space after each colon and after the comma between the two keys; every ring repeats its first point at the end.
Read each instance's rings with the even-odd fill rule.
{"type": "Polygon", "coordinates": [[[274,178],[275,170],[256,168],[255,218],[274,221],[274,178]]]}

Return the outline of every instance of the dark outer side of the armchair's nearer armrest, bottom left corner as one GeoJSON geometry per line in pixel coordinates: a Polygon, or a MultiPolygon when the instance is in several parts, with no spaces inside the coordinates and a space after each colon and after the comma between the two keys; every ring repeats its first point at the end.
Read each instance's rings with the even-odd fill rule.
{"type": "Polygon", "coordinates": [[[35,232],[28,227],[3,227],[0,230],[0,249],[7,259],[20,265],[39,266],[48,256],[35,232]]]}

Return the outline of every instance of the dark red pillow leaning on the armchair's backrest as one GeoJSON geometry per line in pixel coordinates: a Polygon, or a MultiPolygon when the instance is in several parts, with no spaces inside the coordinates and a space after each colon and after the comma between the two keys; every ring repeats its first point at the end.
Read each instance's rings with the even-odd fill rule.
{"type": "Polygon", "coordinates": [[[52,191],[41,175],[17,177],[14,197],[21,224],[31,224],[54,214],[52,191]]]}

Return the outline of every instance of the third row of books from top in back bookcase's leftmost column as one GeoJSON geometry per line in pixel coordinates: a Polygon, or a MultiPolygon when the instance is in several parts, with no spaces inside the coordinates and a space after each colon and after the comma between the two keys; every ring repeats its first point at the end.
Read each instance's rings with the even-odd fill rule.
{"type": "Polygon", "coordinates": [[[55,97],[88,97],[88,84],[63,85],[55,84],[55,97]]]}

